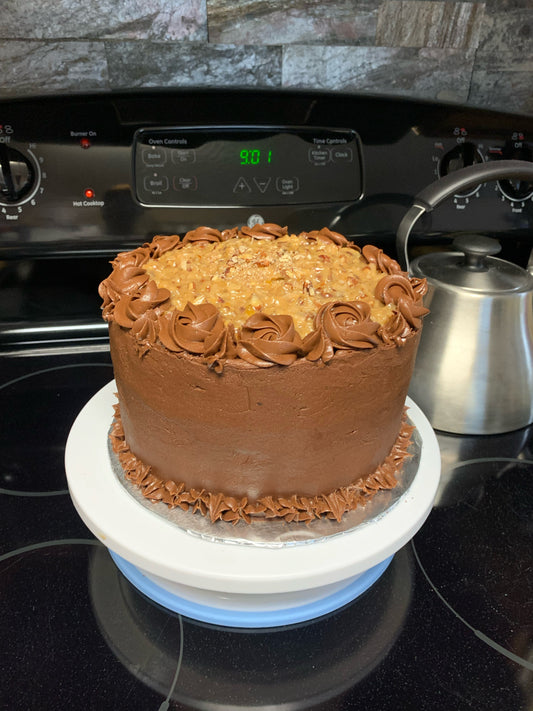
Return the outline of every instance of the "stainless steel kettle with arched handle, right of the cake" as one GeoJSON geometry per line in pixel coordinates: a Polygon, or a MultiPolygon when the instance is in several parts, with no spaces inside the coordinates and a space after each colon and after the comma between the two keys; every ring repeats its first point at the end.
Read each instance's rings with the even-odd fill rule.
{"type": "Polygon", "coordinates": [[[445,432],[497,434],[533,422],[532,274],[496,258],[499,243],[478,235],[456,239],[454,252],[411,263],[408,257],[408,237],[422,214],[468,187],[504,179],[533,182],[533,164],[495,161],[451,173],[415,197],[397,232],[400,262],[427,278],[431,310],[409,395],[445,432]]]}

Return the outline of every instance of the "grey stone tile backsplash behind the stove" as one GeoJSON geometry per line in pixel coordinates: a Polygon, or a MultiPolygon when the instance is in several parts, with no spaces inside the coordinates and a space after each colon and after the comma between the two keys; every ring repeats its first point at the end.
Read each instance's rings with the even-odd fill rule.
{"type": "Polygon", "coordinates": [[[269,87],[533,113],[533,0],[4,0],[0,97],[269,87]]]}

